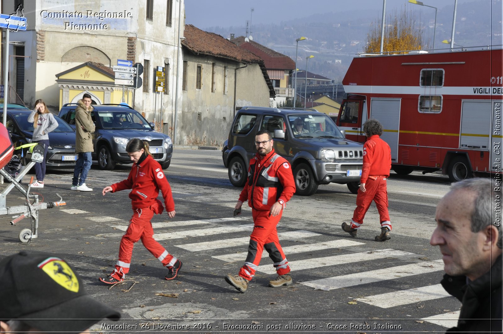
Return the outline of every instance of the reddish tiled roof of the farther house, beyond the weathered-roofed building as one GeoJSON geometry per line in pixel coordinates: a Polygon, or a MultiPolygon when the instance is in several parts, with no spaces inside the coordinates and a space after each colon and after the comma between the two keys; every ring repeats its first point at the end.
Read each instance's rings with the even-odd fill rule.
{"type": "Polygon", "coordinates": [[[238,45],[240,48],[253,52],[264,60],[267,69],[295,69],[295,61],[292,58],[285,56],[282,53],[276,52],[264,45],[254,41],[246,42],[244,36],[234,38],[232,43],[238,45]]]}

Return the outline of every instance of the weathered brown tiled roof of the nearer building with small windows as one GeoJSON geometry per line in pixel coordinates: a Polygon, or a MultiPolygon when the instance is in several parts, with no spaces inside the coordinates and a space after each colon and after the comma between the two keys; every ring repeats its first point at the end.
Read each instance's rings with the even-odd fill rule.
{"type": "Polygon", "coordinates": [[[193,25],[185,25],[182,44],[192,52],[232,59],[243,63],[259,63],[262,59],[239,48],[220,35],[203,31],[193,25]]]}

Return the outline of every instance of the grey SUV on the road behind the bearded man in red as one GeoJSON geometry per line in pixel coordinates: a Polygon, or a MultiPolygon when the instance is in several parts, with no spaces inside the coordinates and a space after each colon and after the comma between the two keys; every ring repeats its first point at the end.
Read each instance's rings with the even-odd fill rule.
{"type": "Polygon", "coordinates": [[[257,153],[255,134],[273,134],[274,150],[292,165],[296,194],[310,196],[318,185],[347,184],[356,194],[363,164],[363,145],[344,137],[335,123],[315,110],[243,107],[236,114],[222,158],[229,180],[244,186],[248,161],[257,153]]]}

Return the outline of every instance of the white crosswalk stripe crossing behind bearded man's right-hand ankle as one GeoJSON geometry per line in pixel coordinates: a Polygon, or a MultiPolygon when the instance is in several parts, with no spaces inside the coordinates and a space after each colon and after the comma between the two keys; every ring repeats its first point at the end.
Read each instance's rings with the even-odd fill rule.
{"type": "MultiPolygon", "coordinates": [[[[335,266],[342,265],[354,262],[362,262],[362,261],[372,261],[379,260],[384,258],[394,258],[394,257],[418,257],[417,254],[403,252],[402,250],[395,249],[382,249],[382,250],[374,250],[373,252],[368,253],[358,253],[358,254],[345,254],[345,255],[335,255],[331,257],[323,257],[323,258],[314,258],[307,260],[299,260],[299,261],[289,261],[288,265],[292,270],[305,270],[312,268],[320,268],[326,266],[335,266]]],[[[287,256],[288,259],[288,256],[287,256]]],[[[270,265],[259,266],[257,271],[266,274],[274,274],[276,273],[276,269],[270,265]]],[[[358,273],[361,278],[362,274],[358,273]]],[[[313,282],[313,281],[311,281],[313,282]]],[[[306,284],[306,282],[302,283],[306,284]]],[[[361,284],[361,283],[360,283],[361,284]]],[[[308,285],[308,284],[306,284],[308,285]]],[[[325,289],[322,289],[325,290],[325,289]]],[[[332,290],[332,289],[330,289],[332,290]]]]}

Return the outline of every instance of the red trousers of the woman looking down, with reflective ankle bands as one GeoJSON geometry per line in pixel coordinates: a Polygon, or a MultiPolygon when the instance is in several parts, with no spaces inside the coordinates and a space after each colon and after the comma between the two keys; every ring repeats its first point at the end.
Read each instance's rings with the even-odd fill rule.
{"type": "Polygon", "coordinates": [[[165,267],[173,267],[177,258],[167,253],[167,250],[160,243],[154,240],[154,231],[150,220],[154,215],[151,208],[135,209],[133,217],[129,222],[126,233],[122,236],[119,246],[119,261],[115,265],[112,276],[124,278],[129,272],[131,257],[133,255],[134,243],[141,239],[141,242],[154,257],[165,267]]]}

